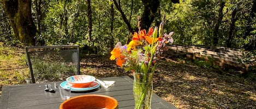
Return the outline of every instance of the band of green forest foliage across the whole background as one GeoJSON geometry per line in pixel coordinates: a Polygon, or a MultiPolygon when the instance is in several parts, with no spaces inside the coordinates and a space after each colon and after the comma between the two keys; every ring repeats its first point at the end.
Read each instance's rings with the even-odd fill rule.
{"type": "MultiPolygon", "coordinates": [[[[6,46],[26,45],[26,41],[15,37],[15,29],[4,8],[7,2],[0,2],[0,42],[6,46]]],[[[164,32],[175,32],[174,44],[253,50],[255,5],[256,0],[162,0],[156,3],[152,0],[32,0],[31,14],[36,28],[32,38],[35,46],[79,44],[106,54],[114,43],[130,40],[131,34],[138,31],[138,16],[151,12],[147,17],[152,22],[147,25],[159,25],[165,14],[164,32]],[[158,2],[156,11],[146,10],[153,9],[158,2]]]]}

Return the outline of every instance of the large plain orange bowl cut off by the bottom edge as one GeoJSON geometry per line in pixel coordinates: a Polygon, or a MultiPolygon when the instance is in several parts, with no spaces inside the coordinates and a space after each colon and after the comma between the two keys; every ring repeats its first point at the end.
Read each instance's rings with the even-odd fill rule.
{"type": "Polygon", "coordinates": [[[109,97],[107,95],[99,95],[99,94],[87,94],[80,95],[78,97],[74,97],[62,102],[59,109],[117,109],[118,103],[117,100],[109,97]]]}

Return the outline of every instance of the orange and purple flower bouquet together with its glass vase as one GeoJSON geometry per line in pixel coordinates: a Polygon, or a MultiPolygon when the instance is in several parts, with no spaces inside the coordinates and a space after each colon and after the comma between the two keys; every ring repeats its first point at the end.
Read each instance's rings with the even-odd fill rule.
{"type": "Polygon", "coordinates": [[[151,108],[152,81],[157,59],[164,50],[167,50],[165,44],[174,41],[171,37],[174,32],[163,34],[163,25],[164,18],[159,29],[151,27],[148,33],[145,29],[140,30],[139,26],[139,32],[133,34],[129,44],[122,46],[121,42],[118,42],[111,52],[110,60],[116,60],[117,66],[133,72],[133,94],[136,109],[151,108]]]}

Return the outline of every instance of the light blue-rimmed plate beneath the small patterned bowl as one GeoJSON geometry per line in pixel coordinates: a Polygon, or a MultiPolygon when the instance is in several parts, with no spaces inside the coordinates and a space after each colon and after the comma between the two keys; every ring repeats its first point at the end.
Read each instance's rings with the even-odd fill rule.
{"type": "MultiPolygon", "coordinates": [[[[68,84],[68,81],[64,81],[64,82],[61,82],[61,84],[59,86],[61,86],[63,88],[67,88],[67,84],[68,84]]],[[[71,91],[74,91],[74,92],[90,91],[92,89],[98,88],[99,86],[100,86],[99,82],[94,81],[91,85],[84,87],[84,88],[71,87],[71,91]]]]}

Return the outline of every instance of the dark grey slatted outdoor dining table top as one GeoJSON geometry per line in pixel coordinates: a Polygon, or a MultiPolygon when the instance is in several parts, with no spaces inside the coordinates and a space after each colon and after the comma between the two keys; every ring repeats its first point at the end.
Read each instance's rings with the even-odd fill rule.
{"type": "MultiPolygon", "coordinates": [[[[71,98],[85,94],[103,94],[115,98],[118,101],[118,108],[120,109],[134,108],[132,78],[129,78],[129,76],[116,76],[101,78],[100,80],[115,81],[115,84],[109,88],[99,87],[97,89],[93,89],[92,91],[87,92],[72,92],[71,98]]],[[[0,99],[0,108],[57,109],[59,108],[59,105],[61,105],[61,103],[64,101],[61,99],[59,91],[57,91],[56,93],[50,93],[44,91],[44,88],[46,84],[51,84],[53,86],[53,84],[56,83],[58,86],[59,84],[61,84],[61,82],[62,81],[16,86],[3,86],[2,96],[0,99]]],[[[153,94],[151,107],[152,109],[176,108],[156,94],[153,94]]]]}

